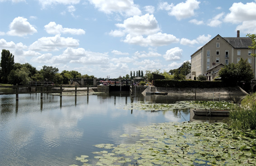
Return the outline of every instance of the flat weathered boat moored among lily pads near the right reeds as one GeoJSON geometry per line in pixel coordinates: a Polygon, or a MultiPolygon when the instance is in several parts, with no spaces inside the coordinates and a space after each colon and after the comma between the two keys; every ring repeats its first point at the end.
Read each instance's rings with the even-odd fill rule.
{"type": "Polygon", "coordinates": [[[228,110],[220,110],[220,109],[194,109],[195,115],[198,116],[223,116],[226,117],[229,115],[228,110]]]}

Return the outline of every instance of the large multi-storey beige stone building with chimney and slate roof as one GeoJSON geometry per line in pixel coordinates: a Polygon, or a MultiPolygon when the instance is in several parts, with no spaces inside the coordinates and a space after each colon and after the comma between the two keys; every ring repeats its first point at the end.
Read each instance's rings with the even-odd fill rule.
{"type": "Polygon", "coordinates": [[[248,48],[251,44],[251,38],[240,37],[240,31],[237,31],[237,37],[215,36],[191,55],[191,79],[205,75],[207,80],[212,81],[218,77],[220,67],[228,63],[236,64],[243,58],[250,63],[256,80],[256,59],[251,56],[255,50],[248,48]]]}

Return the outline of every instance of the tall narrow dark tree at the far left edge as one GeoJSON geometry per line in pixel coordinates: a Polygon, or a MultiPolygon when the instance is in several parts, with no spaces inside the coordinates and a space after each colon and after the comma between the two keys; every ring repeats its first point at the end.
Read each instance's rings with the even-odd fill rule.
{"type": "Polygon", "coordinates": [[[3,83],[8,82],[8,75],[14,68],[14,55],[9,50],[2,50],[0,62],[0,78],[3,83]]]}

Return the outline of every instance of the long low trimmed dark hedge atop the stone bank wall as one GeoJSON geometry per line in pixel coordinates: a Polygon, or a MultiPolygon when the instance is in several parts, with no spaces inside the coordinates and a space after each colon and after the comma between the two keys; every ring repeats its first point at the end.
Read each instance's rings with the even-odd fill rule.
{"type": "Polygon", "coordinates": [[[167,88],[223,88],[237,84],[223,81],[154,80],[154,85],[167,88]]]}

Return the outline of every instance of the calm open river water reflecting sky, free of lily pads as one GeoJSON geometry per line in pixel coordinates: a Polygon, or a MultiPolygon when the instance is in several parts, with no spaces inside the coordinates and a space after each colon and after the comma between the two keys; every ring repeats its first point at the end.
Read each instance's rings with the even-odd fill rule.
{"type": "MultiPolygon", "coordinates": [[[[190,109],[140,111],[124,109],[130,103],[175,103],[177,97],[98,94],[59,96],[44,94],[0,95],[0,165],[82,165],[76,156],[101,151],[95,144],[133,143],[136,126],[189,121],[190,109]],[[182,115],[181,115],[182,114],[182,115]]],[[[182,99],[184,100],[184,99],[182,99]]],[[[193,100],[193,99],[186,99],[193,100]]]]}

